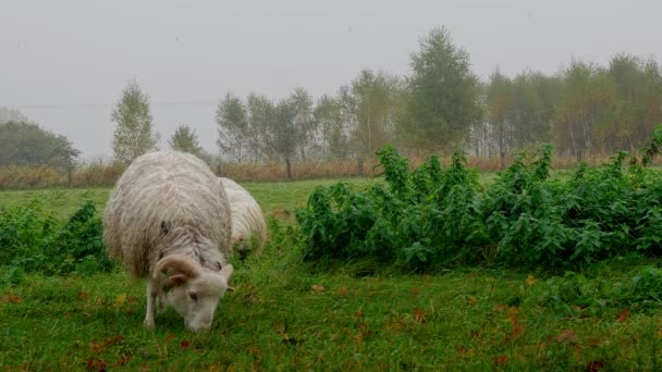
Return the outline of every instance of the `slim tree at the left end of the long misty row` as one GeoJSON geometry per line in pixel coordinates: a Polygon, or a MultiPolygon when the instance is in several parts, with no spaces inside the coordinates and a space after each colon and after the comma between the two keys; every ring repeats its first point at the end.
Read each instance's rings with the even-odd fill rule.
{"type": "Polygon", "coordinates": [[[238,97],[225,95],[216,111],[216,122],[219,125],[217,145],[221,152],[230,159],[244,161],[248,154],[248,119],[246,106],[238,97]]]}

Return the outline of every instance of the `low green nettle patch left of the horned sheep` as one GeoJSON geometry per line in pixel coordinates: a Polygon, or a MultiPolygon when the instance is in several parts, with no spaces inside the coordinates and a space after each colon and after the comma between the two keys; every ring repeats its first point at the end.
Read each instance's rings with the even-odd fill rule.
{"type": "Polygon", "coordinates": [[[113,265],[103,250],[101,221],[91,201],[63,223],[39,200],[2,209],[0,246],[0,266],[9,266],[12,277],[24,272],[88,275],[113,265]]]}

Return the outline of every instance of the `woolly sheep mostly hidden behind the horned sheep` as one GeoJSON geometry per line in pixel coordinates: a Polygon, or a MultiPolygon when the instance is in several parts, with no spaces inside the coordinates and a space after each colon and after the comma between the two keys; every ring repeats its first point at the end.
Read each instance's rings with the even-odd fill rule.
{"type": "Polygon", "coordinates": [[[250,247],[252,237],[255,237],[259,250],[267,240],[267,223],[265,214],[250,194],[236,182],[220,177],[230,209],[232,210],[232,247],[244,252],[250,247]]]}

